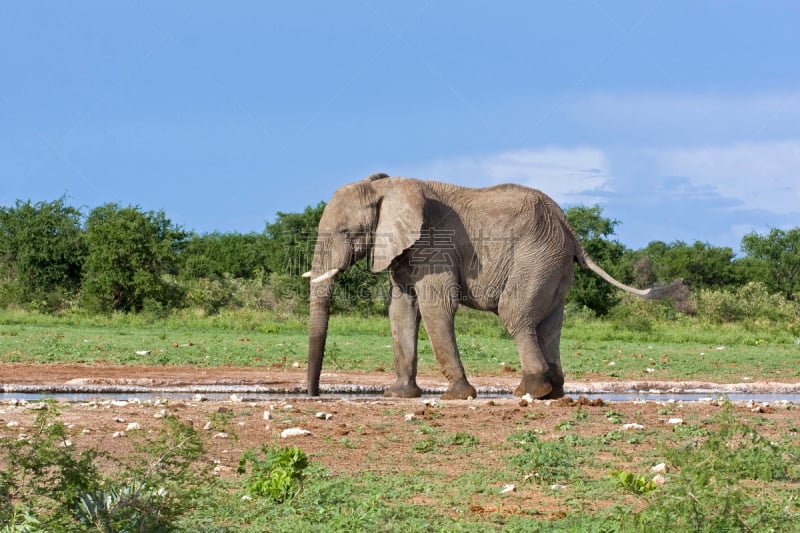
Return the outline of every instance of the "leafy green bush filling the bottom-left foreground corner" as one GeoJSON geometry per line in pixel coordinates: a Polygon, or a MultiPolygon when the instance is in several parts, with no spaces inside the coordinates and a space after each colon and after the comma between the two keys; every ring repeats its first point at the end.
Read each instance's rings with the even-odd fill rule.
{"type": "Polygon", "coordinates": [[[0,438],[0,532],[173,531],[195,498],[213,486],[198,460],[204,447],[188,424],[168,417],[155,435],[131,435],[134,453],[76,451],[48,401],[27,438],[0,438]],[[117,466],[105,476],[97,460],[117,466]]]}

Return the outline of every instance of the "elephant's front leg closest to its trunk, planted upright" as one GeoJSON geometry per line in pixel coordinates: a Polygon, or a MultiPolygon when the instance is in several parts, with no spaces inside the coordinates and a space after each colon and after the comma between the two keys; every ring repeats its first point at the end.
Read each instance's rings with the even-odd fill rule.
{"type": "Polygon", "coordinates": [[[389,322],[392,326],[394,369],[397,373],[397,381],[383,394],[399,398],[422,396],[422,389],[417,386],[419,309],[416,297],[397,285],[392,286],[389,322]]]}

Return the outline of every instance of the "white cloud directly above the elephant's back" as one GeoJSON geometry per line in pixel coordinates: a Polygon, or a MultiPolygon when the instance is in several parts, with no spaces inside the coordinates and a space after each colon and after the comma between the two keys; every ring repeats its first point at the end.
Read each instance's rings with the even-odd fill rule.
{"type": "Polygon", "coordinates": [[[545,147],[441,159],[406,175],[475,187],[520,183],[540,189],[562,204],[591,204],[609,190],[608,157],[597,148],[545,147]]]}

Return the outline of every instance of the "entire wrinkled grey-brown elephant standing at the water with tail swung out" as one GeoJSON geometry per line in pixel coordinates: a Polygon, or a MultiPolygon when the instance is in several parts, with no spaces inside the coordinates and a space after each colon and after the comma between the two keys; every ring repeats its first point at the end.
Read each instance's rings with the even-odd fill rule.
{"type": "Polygon", "coordinates": [[[520,185],[470,189],[375,174],[338,189],[319,224],[311,271],[308,393],[319,395],[335,275],[369,256],[389,269],[389,319],[397,380],[386,396],[416,397],[417,340],[425,324],[448,387],[444,399],[475,397],[454,334],[459,305],[500,316],[519,352],[522,381],[534,398],[564,395],[559,341],[574,261],[621,284],[581,247],[562,210],[520,185]]]}

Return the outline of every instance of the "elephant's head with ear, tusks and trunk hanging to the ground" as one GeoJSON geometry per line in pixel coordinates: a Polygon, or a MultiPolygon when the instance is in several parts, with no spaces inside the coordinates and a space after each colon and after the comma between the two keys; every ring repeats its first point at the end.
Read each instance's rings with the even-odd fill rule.
{"type": "Polygon", "coordinates": [[[333,280],[369,255],[379,272],[419,238],[425,197],[418,181],[373,174],[338,189],[319,223],[311,270],[308,393],[319,395],[333,280]]]}

